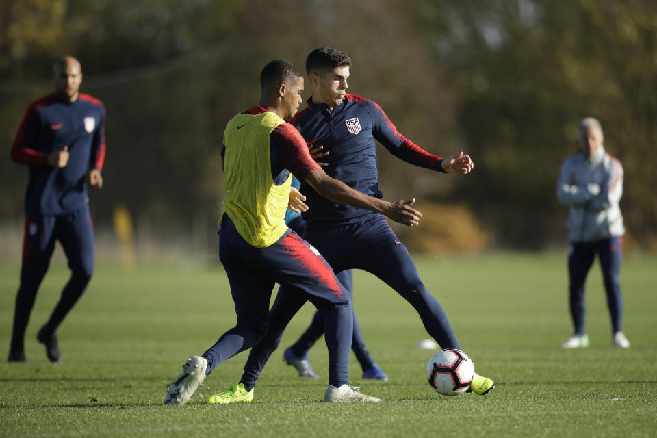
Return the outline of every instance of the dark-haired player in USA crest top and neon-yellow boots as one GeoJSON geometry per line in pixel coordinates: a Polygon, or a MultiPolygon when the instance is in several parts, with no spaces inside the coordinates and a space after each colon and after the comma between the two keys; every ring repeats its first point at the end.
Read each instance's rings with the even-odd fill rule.
{"type": "MultiPolygon", "coordinates": [[[[323,159],[329,176],[368,197],[381,198],[374,140],[415,166],[446,173],[467,174],[472,170],[474,163],[468,155],[461,152],[444,159],[432,155],[398,133],[376,103],[346,94],[350,66],[350,58],[342,51],[331,47],[311,51],[306,70],[313,96],[309,107],[290,120],[309,147],[323,145],[329,153],[323,159]]],[[[381,214],[326,200],[306,183],[301,184],[300,192],[309,207],[303,214],[307,221],[305,238],[320,250],[335,272],[362,269],[378,276],[415,308],[424,328],[441,348],[461,349],[446,312],[420,280],[407,249],[381,214]]],[[[210,396],[208,402],[253,399],[261,370],[304,302],[305,298],[281,287],[270,312],[268,333],[250,351],[240,383],[210,396]]],[[[493,387],[490,378],[475,374],[470,390],[485,395],[493,387]]]]}

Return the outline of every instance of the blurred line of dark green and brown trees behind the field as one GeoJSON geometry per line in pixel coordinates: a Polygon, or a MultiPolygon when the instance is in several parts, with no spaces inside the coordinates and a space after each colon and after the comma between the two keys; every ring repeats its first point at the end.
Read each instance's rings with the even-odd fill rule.
{"type": "Polygon", "coordinates": [[[303,68],[330,45],[352,57],[348,92],[379,103],[424,149],[474,158],[471,175],[446,176],[379,149],[386,198],[414,196],[436,212],[427,229],[458,227],[469,211],[478,242],[483,229],[498,248],[563,244],[556,179],[578,121],[595,116],[625,168],[626,228],[656,248],[656,39],[649,0],[3,0],[0,222],[22,216],[27,172],[9,150],[27,105],[51,92],[56,57],[78,57],[82,91],[107,108],[96,227],[124,205],[166,239],[198,218],[207,235],[216,227],[223,127],[257,103],[266,62],[303,68]]]}

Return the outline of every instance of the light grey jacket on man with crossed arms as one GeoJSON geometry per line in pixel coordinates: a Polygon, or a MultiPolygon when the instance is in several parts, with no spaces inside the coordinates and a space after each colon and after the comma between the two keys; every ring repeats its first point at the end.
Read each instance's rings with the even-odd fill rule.
{"type": "Polygon", "coordinates": [[[568,157],[556,186],[559,202],[570,207],[566,225],[571,242],[595,242],[625,234],[619,207],[623,166],[600,146],[589,158],[568,157]]]}

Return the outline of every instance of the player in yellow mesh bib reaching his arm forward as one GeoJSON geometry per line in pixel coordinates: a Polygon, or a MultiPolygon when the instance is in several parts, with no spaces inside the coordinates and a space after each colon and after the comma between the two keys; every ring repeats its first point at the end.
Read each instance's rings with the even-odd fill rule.
{"type": "Polygon", "coordinates": [[[348,384],[352,307],[348,292],[324,257],[285,225],[294,173],[337,203],[377,211],[406,225],[422,214],[412,202],[390,203],[366,196],[328,175],[311,158],[298,131],[285,123],[296,111],[303,75],[284,60],[260,75],[259,104],[229,121],[224,131],[226,200],[219,255],[231,284],[237,325],[202,356],[192,356],[166,391],[164,404],[188,402],[205,376],[222,361],[255,345],[268,330],[274,283],[289,288],[324,313],[329,348],[327,402],[381,401],[348,384]]]}

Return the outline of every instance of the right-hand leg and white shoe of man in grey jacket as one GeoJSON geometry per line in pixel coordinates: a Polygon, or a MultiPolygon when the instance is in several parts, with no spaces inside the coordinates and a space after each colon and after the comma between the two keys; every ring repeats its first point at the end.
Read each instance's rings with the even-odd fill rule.
{"type": "Polygon", "coordinates": [[[607,305],[613,329],[613,345],[628,348],[630,342],[623,334],[623,296],[621,294],[621,264],[623,262],[623,238],[611,237],[600,242],[598,248],[600,268],[604,290],[607,295],[607,305]]]}

